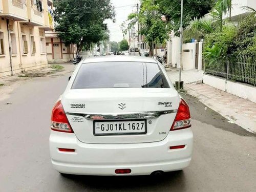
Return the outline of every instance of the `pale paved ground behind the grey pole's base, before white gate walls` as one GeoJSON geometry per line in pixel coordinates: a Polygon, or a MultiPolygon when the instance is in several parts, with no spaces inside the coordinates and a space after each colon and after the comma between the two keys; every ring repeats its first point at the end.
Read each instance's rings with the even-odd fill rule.
{"type": "MultiPolygon", "coordinates": [[[[197,70],[197,69],[181,71],[181,80],[184,81],[184,84],[200,82],[200,81],[202,82],[203,73],[204,71],[197,70]]],[[[167,69],[167,74],[173,83],[179,80],[179,69],[177,68],[167,69]]]]}

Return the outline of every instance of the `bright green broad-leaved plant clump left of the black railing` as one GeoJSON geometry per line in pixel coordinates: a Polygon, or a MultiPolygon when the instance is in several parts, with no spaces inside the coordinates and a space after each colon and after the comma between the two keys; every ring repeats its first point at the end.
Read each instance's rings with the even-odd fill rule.
{"type": "Polygon", "coordinates": [[[211,48],[206,48],[204,54],[204,59],[211,65],[217,60],[224,58],[226,54],[225,48],[221,47],[218,44],[213,45],[211,48]]]}

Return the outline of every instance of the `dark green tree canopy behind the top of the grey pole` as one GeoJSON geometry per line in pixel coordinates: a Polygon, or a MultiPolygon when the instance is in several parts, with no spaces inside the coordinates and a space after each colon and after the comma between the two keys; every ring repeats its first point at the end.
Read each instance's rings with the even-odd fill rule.
{"type": "MultiPolygon", "coordinates": [[[[180,28],[180,0],[156,0],[161,14],[166,15],[170,29],[175,32],[180,28]]],[[[207,14],[214,6],[215,0],[185,0],[183,6],[183,27],[189,25],[193,18],[207,14]]],[[[177,34],[177,33],[176,33],[177,34]]]]}

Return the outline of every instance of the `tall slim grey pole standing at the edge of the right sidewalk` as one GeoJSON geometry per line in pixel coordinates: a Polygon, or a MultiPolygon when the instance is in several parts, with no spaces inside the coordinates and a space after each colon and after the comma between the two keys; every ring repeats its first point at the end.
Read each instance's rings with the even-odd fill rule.
{"type": "Polygon", "coordinates": [[[180,13],[180,69],[179,69],[179,81],[175,82],[176,89],[183,89],[183,81],[181,81],[181,69],[182,69],[182,37],[183,37],[183,0],[181,0],[181,13],[180,13]]]}

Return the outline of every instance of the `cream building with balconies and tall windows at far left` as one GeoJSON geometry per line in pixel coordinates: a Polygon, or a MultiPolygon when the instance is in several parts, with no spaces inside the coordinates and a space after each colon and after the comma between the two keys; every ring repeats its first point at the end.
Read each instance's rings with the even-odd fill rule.
{"type": "Polygon", "coordinates": [[[47,67],[53,0],[0,0],[0,77],[47,67]]]}

